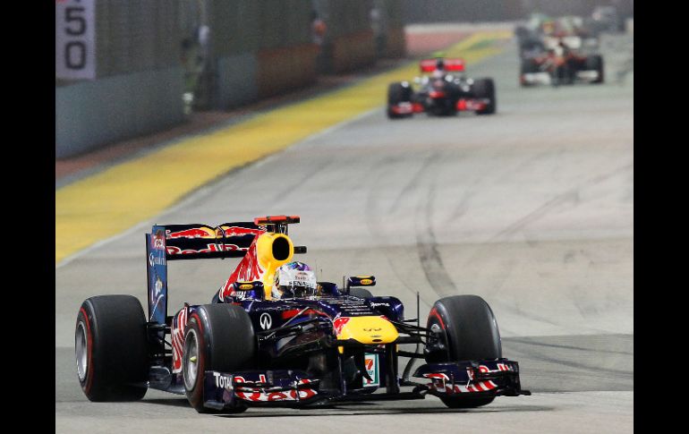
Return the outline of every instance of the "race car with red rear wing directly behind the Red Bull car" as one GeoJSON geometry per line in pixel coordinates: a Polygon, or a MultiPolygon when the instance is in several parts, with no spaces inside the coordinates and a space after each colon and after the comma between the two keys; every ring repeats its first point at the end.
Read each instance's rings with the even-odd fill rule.
{"type": "Polygon", "coordinates": [[[455,115],[473,111],[477,115],[492,115],[498,102],[492,79],[471,79],[464,76],[463,59],[421,60],[421,72],[430,72],[414,79],[418,89],[409,81],[391,83],[387,88],[387,117],[397,119],[415,113],[455,115]]]}

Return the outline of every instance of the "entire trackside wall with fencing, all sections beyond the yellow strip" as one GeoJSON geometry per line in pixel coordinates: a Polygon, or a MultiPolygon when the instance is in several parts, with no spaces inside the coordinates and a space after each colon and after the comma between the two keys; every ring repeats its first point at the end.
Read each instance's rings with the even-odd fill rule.
{"type": "Polygon", "coordinates": [[[188,45],[200,26],[210,30],[197,93],[204,108],[314,83],[313,11],[327,22],[321,56],[329,56],[331,72],[374,64],[374,1],[386,20],[383,54],[404,55],[402,0],[98,0],[98,79],[55,80],[56,157],[182,123],[185,80],[190,87],[190,62],[200,52],[188,45]]]}

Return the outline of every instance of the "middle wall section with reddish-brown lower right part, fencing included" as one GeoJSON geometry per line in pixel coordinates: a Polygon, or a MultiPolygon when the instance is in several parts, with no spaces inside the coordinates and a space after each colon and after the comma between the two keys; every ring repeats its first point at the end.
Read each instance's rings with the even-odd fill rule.
{"type": "Polygon", "coordinates": [[[240,106],[316,81],[311,10],[303,0],[213,1],[215,108],[240,106]]]}

